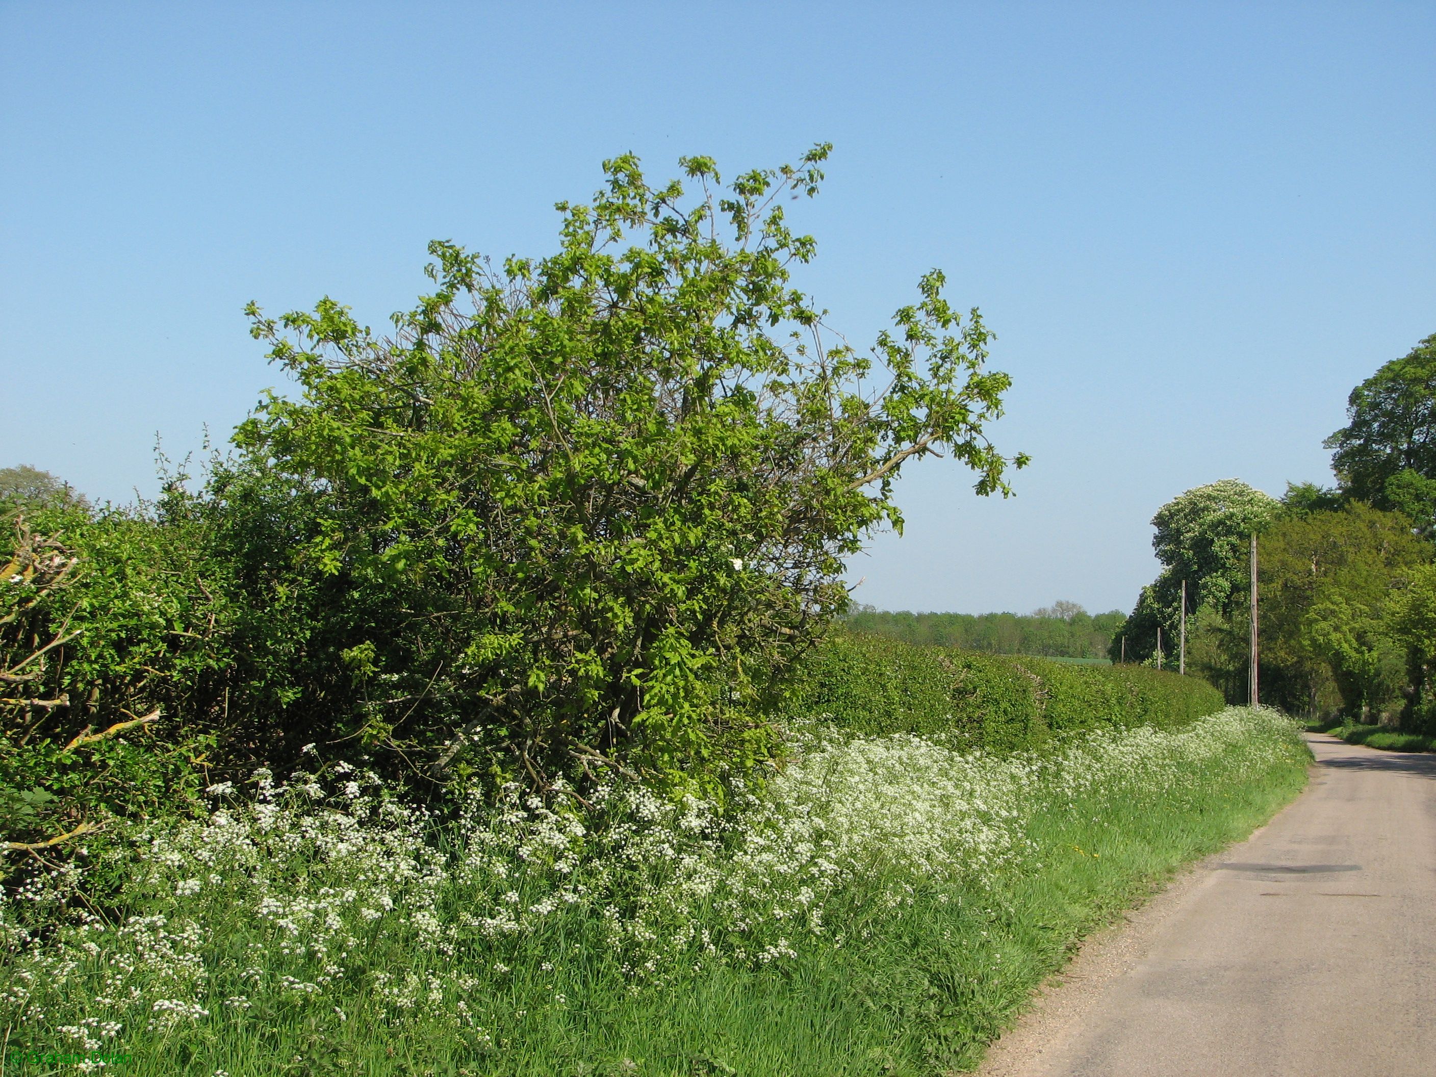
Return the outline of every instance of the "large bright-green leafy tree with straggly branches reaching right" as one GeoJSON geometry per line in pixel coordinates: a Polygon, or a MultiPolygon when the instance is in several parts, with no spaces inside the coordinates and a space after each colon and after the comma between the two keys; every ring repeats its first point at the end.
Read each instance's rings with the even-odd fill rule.
{"type": "Polygon", "coordinates": [[[784,210],[826,155],[727,190],[708,158],[662,185],[610,161],[550,257],[432,244],[435,290],[392,336],[327,299],[251,309],[300,392],[240,428],[214,491],[246,505],[247,586],[312,629],[325,610],[289,705],[353,704],[299,735],[428,750],[434,774],[701,773],[761,751],[754,715],[844,609],[844,559],[902,526],[905,464],[946,454],[1008,493],[1025,458],[984,429],[1010,379],[941,273],[867,355],[793,287],[814,243],[784,210]]]}

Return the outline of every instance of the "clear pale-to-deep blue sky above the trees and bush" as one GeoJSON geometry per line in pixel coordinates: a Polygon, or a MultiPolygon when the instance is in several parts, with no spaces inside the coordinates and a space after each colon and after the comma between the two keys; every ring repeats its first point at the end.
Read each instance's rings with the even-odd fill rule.
{"type": "Polygon", "coordinates": [[[1436,4],[0,3],[0,465],[155,488],[280,383],[240,313],[372,325],[435,237],[553,247],[622,151],[836,144],[801,284],[872,339],[932,266],[1015,379],[1018,497],[926,461],[889,609],[1129,609],[1152,513],[1327,481],[1436,332],[1436,4]]]}

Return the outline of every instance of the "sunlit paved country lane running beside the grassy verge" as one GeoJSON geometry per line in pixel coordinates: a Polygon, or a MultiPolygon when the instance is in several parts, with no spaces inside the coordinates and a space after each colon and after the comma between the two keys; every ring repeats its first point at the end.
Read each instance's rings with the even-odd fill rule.
{"type": "Polygon", "coordinates": [[[984,1077],[1436,1074],[1436,755],[1310,787],[1077,958],[984,1077]]]}

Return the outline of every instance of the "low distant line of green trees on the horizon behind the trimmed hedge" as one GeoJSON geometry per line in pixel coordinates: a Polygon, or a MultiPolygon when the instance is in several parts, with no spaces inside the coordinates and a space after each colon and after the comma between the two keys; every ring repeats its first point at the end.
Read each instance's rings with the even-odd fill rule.
{"type": "Polygon", "coordinates": [[[988,655],[1106,658],[1122,610],[1088,613],[1076,602],[1057,602],[1031,613],[890,613],[854,606],[847,628],[906,643],[981,651],[988,655]]]}

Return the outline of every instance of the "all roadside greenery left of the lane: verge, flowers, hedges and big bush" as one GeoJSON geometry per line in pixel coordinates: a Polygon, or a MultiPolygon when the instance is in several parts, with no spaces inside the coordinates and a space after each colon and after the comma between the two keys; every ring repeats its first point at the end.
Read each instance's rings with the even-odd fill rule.
{"type": "Polygon", "coordinates": [[[0,1068],[945,1073],[1295,794],[1202,679],[844,628],[906,465],[1025,457],[941,273],[793,287],[826,154],[251,306],[293,392],[152,503],[0,474],[0,1068]]]}

